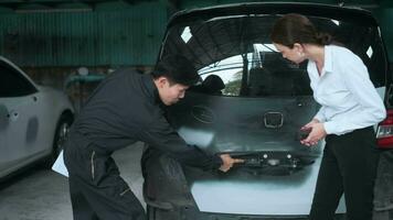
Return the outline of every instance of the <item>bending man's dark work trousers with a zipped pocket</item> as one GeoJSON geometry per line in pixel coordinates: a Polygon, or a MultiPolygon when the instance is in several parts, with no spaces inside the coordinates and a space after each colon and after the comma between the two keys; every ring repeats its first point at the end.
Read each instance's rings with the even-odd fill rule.
{"type": "Polygon", "coordinates": [[[119,176],[110,154],[77,132],[64,147],[74,220],[145,220],[145,210],[119,176]]]}

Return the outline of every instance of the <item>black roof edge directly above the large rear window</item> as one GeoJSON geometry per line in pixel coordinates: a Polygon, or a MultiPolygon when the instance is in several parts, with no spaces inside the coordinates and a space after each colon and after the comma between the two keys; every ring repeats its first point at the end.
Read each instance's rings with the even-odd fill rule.
{"type": "Polygon", "coordinates": [[[171,16],[168,22],[168,28],[183,22],[201,19],[209,20],[216,16],[287,13],[300,13],[308,16],[325,16],[329,19],[359,23],[362,25],[378,25],[376,20],[373,18],[372,13],[360,8],[339,7],[321,3],[254,2],[183,10],[171,16]]]}

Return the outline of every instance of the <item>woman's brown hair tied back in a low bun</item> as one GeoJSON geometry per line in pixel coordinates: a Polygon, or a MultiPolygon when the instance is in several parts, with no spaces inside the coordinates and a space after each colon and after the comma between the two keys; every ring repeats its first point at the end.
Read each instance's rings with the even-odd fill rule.
{"type": "Polygon", "coordinates": [[[307,16],[289,13],[276,21],[270,33],[274,43],[294,47],[295,43],[328,45],[332,37],[327,33],[320,33],[307,16]]]}

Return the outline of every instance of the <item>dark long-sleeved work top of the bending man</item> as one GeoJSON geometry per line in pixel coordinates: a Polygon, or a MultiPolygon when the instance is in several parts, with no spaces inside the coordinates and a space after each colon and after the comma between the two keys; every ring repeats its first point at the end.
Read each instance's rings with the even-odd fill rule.
{"type": "Polygon", "coordinates": [[[187,145],[169,125],[150,75],[119,70],[108,76],[85,103],[73,130],[111,153],[142,141],[178,160],[202,168],[217,168],[221,158],[187,145]]]}

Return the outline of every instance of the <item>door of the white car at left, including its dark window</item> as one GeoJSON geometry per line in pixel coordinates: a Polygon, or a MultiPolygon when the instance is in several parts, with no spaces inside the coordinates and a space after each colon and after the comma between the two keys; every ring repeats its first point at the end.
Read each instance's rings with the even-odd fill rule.
{"type": "Polygon", "coordinates": [[[31,162],[38,153],[38,89],[0,61],[0,177],[31,162]]]}

